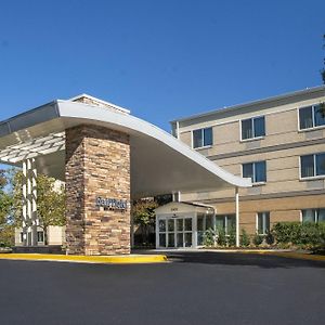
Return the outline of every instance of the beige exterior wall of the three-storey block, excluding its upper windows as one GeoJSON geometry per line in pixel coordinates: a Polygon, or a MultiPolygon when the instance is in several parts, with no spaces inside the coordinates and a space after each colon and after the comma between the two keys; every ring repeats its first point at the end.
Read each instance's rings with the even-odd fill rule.
{"type": "MultiPolygon", "coordinates": [[[[245,105],[242,109],[217,110],[179,122],[180,140],[192,146],[192,131],[212,127],[213,144],[197,150],[220,167],[242,176],[242,165],[266,161],[266,182],[240,188],[240,222],[250,233],[256,213],[270,211],[271,224],[299,221],[306,208],[325,207],[325,178],[300,180],[300,156],[325,153],[325,128],[299,130],[299,107],[325,102],[325,88],[316,94],[288,96],[282,101],[245,105]],[[265,118],[265,136],[240,140],[240,120],[265,118]]],[[[234,213],[234,188],[205,193],[182,193],[182,200],[202,202],[216,207],[217,213],[234,213]]]]}

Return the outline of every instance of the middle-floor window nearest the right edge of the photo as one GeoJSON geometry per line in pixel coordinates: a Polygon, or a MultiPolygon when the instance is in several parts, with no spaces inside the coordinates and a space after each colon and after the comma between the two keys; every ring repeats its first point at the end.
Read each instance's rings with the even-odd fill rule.
{"type": "Polygon", "coordinates": [[[300,177],[313,178],[325,176],[325,153],[300,157],[300,177]]]}

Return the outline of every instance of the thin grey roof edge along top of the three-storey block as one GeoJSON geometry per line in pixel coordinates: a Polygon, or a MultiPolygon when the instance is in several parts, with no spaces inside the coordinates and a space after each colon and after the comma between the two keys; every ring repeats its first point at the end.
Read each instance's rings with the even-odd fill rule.
{"type": "Polygon", "coordinates": [[[246,103],[233,105],[233,106],[230,106],[230,107],[214,108],[212,110],[208,110],[208,112],[200,113],[200,114],[194,114],[194,115],[191,115],[188,117],[181,117],[181,118],[178,118],[178,119],[173,119],[173,120],[170,120],[169,122],[171,125],[174,125],[176,122],[180,122],[180,121],[187,121],[187,120],[193,120],[193,119],[196,119],[196,118],[206,117],[206,116],[210,116],[210,115],[223,114],[225,112],[237,110],[237,109],[245,108],[245,107],[248,107],[248,106],[250,107],[250,106],[253,106],[253,105],[261,105],[261,104],[272,103],[272,102],[283,100],[283,99],[295,98],[295,96],[298,96],[298,95],[314,93],[314,92],[318,92],[318,91],[323,91],[323,90],[325,90],[325,84],[316,86],[316,87],[312,87],[312,88],[307,88],[307,89],[303,89],[303,90],[292,91],[292,92],[284,93],[284,94],[281,94],[281,95],[266,98],[266,99],[263,99],[263,100],[256,100],[256,101],[252,101],[252,102],[246,102],[246,103]]]}

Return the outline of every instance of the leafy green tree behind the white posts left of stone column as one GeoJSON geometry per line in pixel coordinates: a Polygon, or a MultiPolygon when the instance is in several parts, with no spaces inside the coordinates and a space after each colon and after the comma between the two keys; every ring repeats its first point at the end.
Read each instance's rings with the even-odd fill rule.
{"type": "MultiPolygon", "coordinates": [[[[48,245],[48,230],[50,225],[63,226],[65,218],[65,192],[63,186],[55,188],[55,179],[38,174],[37,183],[37,218],[39,226],[44,233],[44,244],[48,245]]],[[[23,173],[16,171],[12,178],[13,184],[13,219],[15,226],[23,224],[23,173]]]]}

